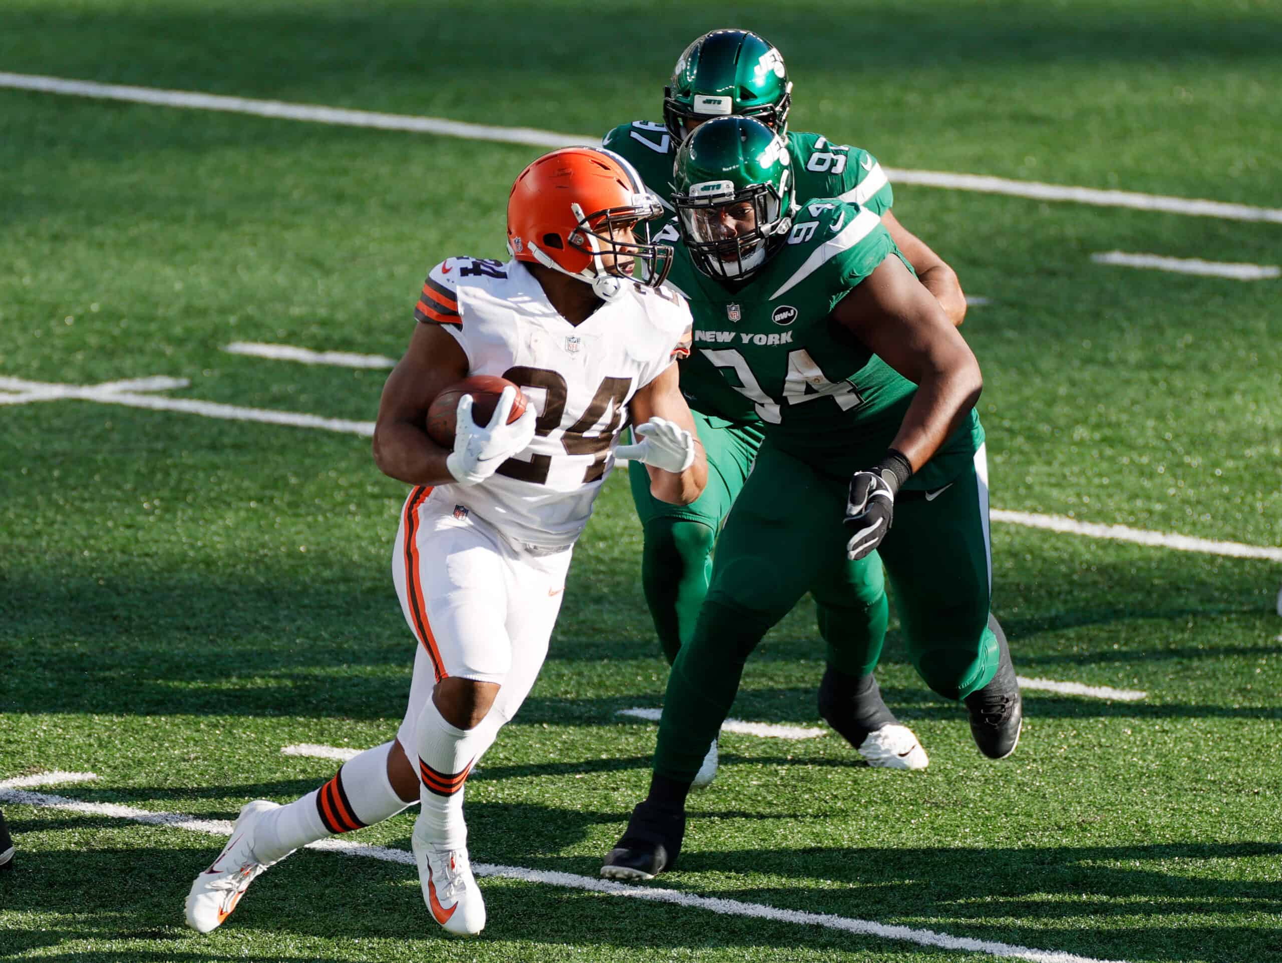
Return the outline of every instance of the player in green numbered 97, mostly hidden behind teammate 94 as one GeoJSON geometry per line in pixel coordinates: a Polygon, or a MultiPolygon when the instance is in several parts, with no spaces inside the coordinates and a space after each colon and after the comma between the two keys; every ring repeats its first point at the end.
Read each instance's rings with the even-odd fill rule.
{"type": "MultiPolygon", "coordinates": [[[[605,135],[603,144],[632,162],[646,186],[672,210],[672,165],[688,133],[713,117],[733,114],[762,121],[787,145],[796,196],[803,201],[840,197],[873,210],[922,283],[953,323],[960,324],[965,296],[956,274],[891,213],[894,192],[877,159],[859,147],[831,144],[818,133],[788,132],[791,100],[792,85],[774,46],[749,31],[713,31],[686,47],[677,60],[664,91],[663,123],[620,124],[605,135]]],[[[669,224],[660,236],[676,240],[676,226],[669,224]]],[[[668,505],[650,495],[644,473],[629,476],[645,532],[642,587],[669,663],[695,631],[708,592],[717,532],[747,480],[763,437],[754,403],[731,389],[713,365],[683,364],[681,389],[708,454],[708,487],[691,505],[668,505]]],[[[858,580],[859,574],[851,577],[858,580]]],[[[828,642],[831,669],[820,687],[819,712],[872,766],[924,768],[929,762],[926,751],[886,709],[872,677],[887,618],[885,599],[876,605],[868,615],[819,601],[819,631],[828,642]],[[879,622],[881,632],[865,631],[868,618],[879,622]],[[851,626],[858,626],[855,637],[851,626]]],[[[715,772],[713,741],[695,785],[706,785],[715,772]]]]}

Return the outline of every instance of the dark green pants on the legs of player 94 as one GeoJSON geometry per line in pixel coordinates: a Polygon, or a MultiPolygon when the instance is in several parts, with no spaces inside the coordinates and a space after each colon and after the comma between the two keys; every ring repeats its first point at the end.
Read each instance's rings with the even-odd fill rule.
{"type": "Polygon", "coordinates": [[[858,619],[860,607],[868,613],[886,604],[883,565],[909,659],[926,683],[962,699],[992,678],[999,651],[988,628],[983,448],[965,472],[929,494],[900,492],[890,532],[855,569],[841,523],[846,482],[762,446],[722,532],[695,633],[668,676],[658,775],[694,778],[735,701],[744,663],[797,599],[812,591],[829,610],[845,605],[858,619]]]}

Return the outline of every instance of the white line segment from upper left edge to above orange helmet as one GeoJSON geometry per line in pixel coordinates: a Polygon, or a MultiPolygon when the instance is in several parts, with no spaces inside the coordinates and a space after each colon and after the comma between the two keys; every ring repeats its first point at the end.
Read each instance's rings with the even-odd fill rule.
{"type": "Polygon", "coordinates": [[[442,137],[464,137],[467,140],[497,141],[500,144],[529,144],[536,147],[600,144],[600,140],[596,137],[577,137],[572,133],[535,131],[528,127],[491,127],[488,124],[444,121],[435,117],[383,114],[373,110],[346,110],[310,104],[286,104],[281,100],[226,97],[215,94],[196,94],[192,91],[162,90],[158,87],[128,87],[119,83],[67,81],[60,77],[41,77],[29,73],[0,73],[0,87],[33,90],[42,94],[68,94],[100,100],[127,100],[133,104],[151,104],[154,106],[221,110],[231,114],[253,114],[255,117],[273,117],[286,121],[310,121],[313,123],[338,124],[342,127],[374,127],[383,131],[437,133],[442,137]]]}

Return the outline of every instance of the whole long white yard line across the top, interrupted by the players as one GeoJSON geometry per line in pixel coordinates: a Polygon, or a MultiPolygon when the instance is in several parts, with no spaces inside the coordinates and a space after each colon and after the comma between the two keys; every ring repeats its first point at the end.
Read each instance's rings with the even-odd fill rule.
{"type": "MultiPolygon", "coordinates": [[[[468,140],[494,141],[499,144],[526,144],[536,147],[564,147],[572,144],[599,144],[596,137],[573,133],[536,131],[529,127],[494,127],[488,124],[463,123],[436,117],[415,117],[412,114],[385,114],[372,110],[347,110],[341,108],[318,106],[310,104],[287,104],[279,100],[255,100],[250,97],[228,97],[214,94],[165,90],[159,87],[131,87],[119,83],[96,83],[94,81],[73,81],[60,77],[44,77],[29,73],[0,73],[0,87],[12,90],[31,90],[44,94],[63,94],[103,100],[124,100],[135,104],[156,106],[187,108],[194,110],[222,110],[255,117],[283,118],[287,121],[309,121],[313,123],[342,124],[346,127],[374,127],[385,131],[412,131],[415,133],[435,133],[444,137],[464,137],[468,140]]],[[[1255,208],[1246,204],[1226,204],[1214,200],[1169,197],[1133,191],[1105,191],[1094,187],[1068,187],[1064,185],[1040,183],[1037,181],[1011,181],[1005,177],[986,177],[982,174],[955,174],[942,171],[905,171],[886,168],[890,178],[897,183],[913,183],[926,187],[944,187],[955,191],[978,191],[981,194],[1005,194],[1014,197],[1035,200],[1058,200],[1097,206],[1135,208],[1137,210],[1159,210],[1170,214],[1194,217],[1215,217],[1227,221],[1265,221],[1282,224],[1282,209],[1255,208]]]]}

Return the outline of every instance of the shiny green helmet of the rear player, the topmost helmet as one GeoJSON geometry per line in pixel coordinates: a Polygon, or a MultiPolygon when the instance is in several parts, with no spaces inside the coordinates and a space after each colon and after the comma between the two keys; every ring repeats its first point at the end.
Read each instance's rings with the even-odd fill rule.
{"type": "Polygon", "coordinates": [[[783,55],[746,29],[714,29],[701,36],[686,47],[663,88],[663,122],[677,144],[686,140],[687,117],[755,117],[787,133],[791,105],[792,83],[783,55]]]}

